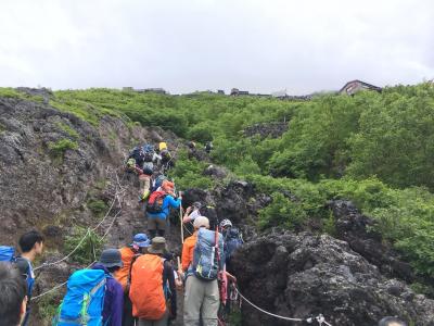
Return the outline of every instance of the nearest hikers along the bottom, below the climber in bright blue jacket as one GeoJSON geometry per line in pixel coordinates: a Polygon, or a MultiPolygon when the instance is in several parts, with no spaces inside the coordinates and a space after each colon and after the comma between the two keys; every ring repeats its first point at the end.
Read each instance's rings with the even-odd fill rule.
{"type": "MultiPolygon", "coordinates": [[[[177,290],[182,288],[183,325],[218,325],[228,277],[234,281],[226,271],[231,258],[227,253],[234,249],[228,249],[232,226],[225,220],[221,233],[210,230],[207,217],[193,208],[189,212],[184,221],[193,224],[194,233],[183,241],[178,267],[164,237],[137,234],[120,249],[103,250],[90,268],[72,274],[52,325],[168,325],[177,317],[177,290]]],[[[15,256],[13,247],[0,247],[0,325],[27,325],[33,262],[42,253],[43,241],[31,230],[20,238],[21,255],[15,256]]]]}

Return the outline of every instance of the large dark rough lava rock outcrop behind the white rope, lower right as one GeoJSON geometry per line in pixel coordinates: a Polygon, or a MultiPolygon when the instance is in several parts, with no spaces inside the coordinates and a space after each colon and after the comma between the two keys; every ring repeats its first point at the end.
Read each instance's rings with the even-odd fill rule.
{"type": "MultiPolygon", "coordinates": [[[[434,301],[382,276],[350,246],[328,235],[272,231],[235,255],[244,296],[270,312],[299,318],[322,313],[332,325],[376,325],[398,315],[412,325],[434,325],[434,301]]],[[[243,325],[291,325],[248,304],[243,325]]],[[[296,324],[294,324],[296,325],[296,324]]]]}

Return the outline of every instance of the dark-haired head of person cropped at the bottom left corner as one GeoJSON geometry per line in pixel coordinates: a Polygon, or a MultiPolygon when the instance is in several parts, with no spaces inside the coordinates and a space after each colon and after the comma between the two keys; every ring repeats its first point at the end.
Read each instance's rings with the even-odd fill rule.
{"type": "Polygon", "coordinates": [[[22,325],[27,311],[27,286],[13,264],[0,262],[0,325],[22,325]]]}

